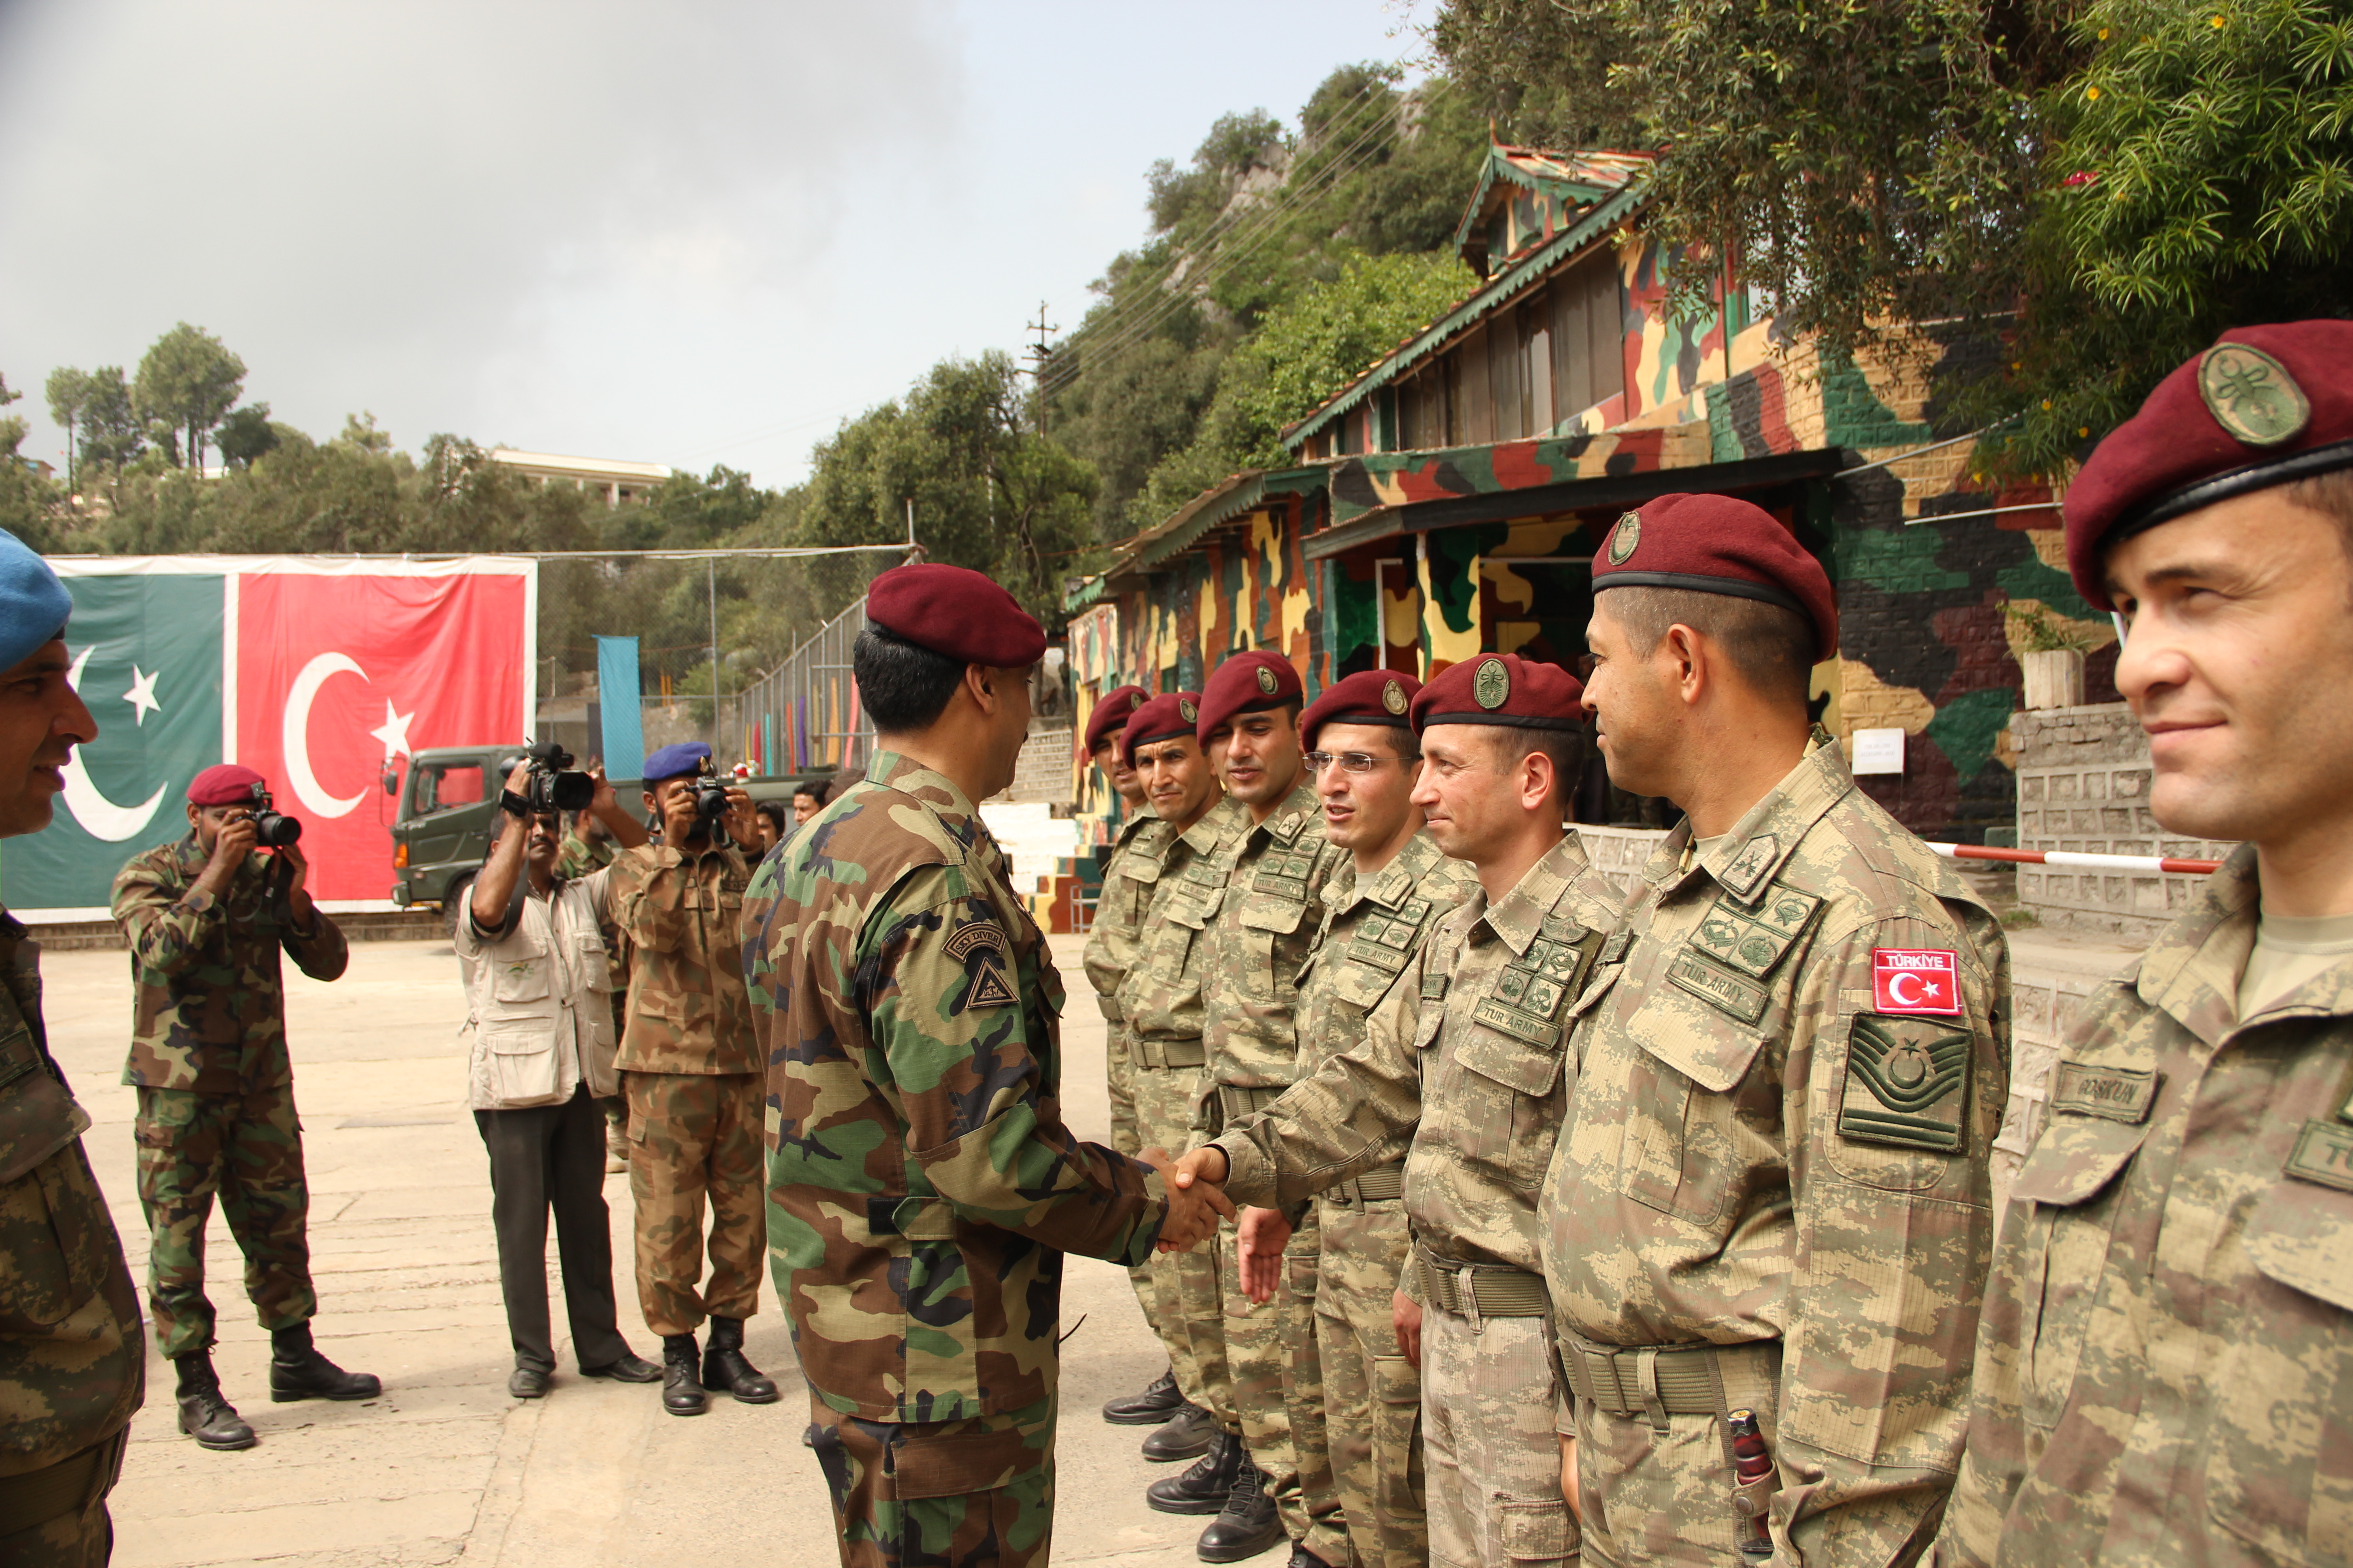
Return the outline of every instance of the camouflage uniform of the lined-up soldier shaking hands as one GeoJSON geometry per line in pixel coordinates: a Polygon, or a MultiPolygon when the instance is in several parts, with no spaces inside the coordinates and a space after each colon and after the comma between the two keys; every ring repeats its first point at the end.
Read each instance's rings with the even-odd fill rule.
{"type": "Polygon", "coordinates": [[[1567,1112],[1569,999],[1612,926],[1617,893],[1565,837],[1494,905],[1471,891],[1362,1044],[1217,1140],[1238,1204],[1297,1204],[1405,1154],[1431,1561],[1452,1568],[1577,1552],[1537,1192],[1567,1112]]]}

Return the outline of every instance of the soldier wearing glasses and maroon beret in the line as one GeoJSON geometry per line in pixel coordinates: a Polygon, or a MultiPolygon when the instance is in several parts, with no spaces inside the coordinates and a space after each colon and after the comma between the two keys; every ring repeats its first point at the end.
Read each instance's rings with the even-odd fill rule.
{"type": "MultiPolygon", "coordinates": [[[[1421,943],[1473,886],[1447,860],[1412,802],[1421,750],[1407,717],[1421,682],[1362,670],[1299,717],[1322,797],[1325,837],[1348,851],[1327,884],[1315,950],[1299,973],[1299,1070],[1313,1077],[1365,1039],[1365,1016],[1393,990],[1421,943]]],[[[1315,1197],[1315,1352],[1320,1410],[1292,1408],[1292,1427],[1325,1427],[1348,1552],[1358,1568],[1419,1568],[1431,1556],[1421,1476],[1421,1373],[1405,1359],[1395,1291],[1414,1255],[1405,1225],[1405,1161],[1388,1161],[1315,1197]]],[[[1245,1208],[1242,1284],[1271,1295],[1289,1225],[1282,1211],[1245,1208]]],[[[1292,1399],[1313,1389],[1289,1387],[1292,1399]]]]}

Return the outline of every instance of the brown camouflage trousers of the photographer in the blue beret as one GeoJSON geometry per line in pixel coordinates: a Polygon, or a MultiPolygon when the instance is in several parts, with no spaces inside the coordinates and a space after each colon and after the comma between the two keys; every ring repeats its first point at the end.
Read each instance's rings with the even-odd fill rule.
{"type": "Polygon", "coordinates": [[[767,1253],[758,1072],[624,1072],[628,1194],[638,1206],[638,1307],[659,1335],[760,1309],[767,1253]],[[711,1281],[704,1201],[711,1201],[711,1281]],[[696,1288],[701,1286],[701,1288],[696,1288]]]}

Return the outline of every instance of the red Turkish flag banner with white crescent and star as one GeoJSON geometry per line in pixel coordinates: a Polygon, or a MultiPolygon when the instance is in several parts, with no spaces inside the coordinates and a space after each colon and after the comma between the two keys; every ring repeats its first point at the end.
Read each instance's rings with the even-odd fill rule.
{"type": "Polygon", "coordinates": [[[228,576],[224,752],[301,818],[311,896],[381,900],[398,797],[386,769],[532,726],[529,562],[259,562],[228,576]]]}

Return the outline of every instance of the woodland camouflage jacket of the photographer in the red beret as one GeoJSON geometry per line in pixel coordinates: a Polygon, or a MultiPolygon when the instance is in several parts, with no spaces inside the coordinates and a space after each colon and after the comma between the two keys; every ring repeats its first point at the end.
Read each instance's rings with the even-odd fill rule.
{"type": "Polygon", "coordinates": [[[191,832],[115,875],[136,987],[125,1084],[233,1095],[294,1081],[278,950],[313,980],[351,961],[325,910],[313,907],[308,933],[294,929],[273,856],[247,856],[224,898],[195,889],[209,858],[191,832]]]}

